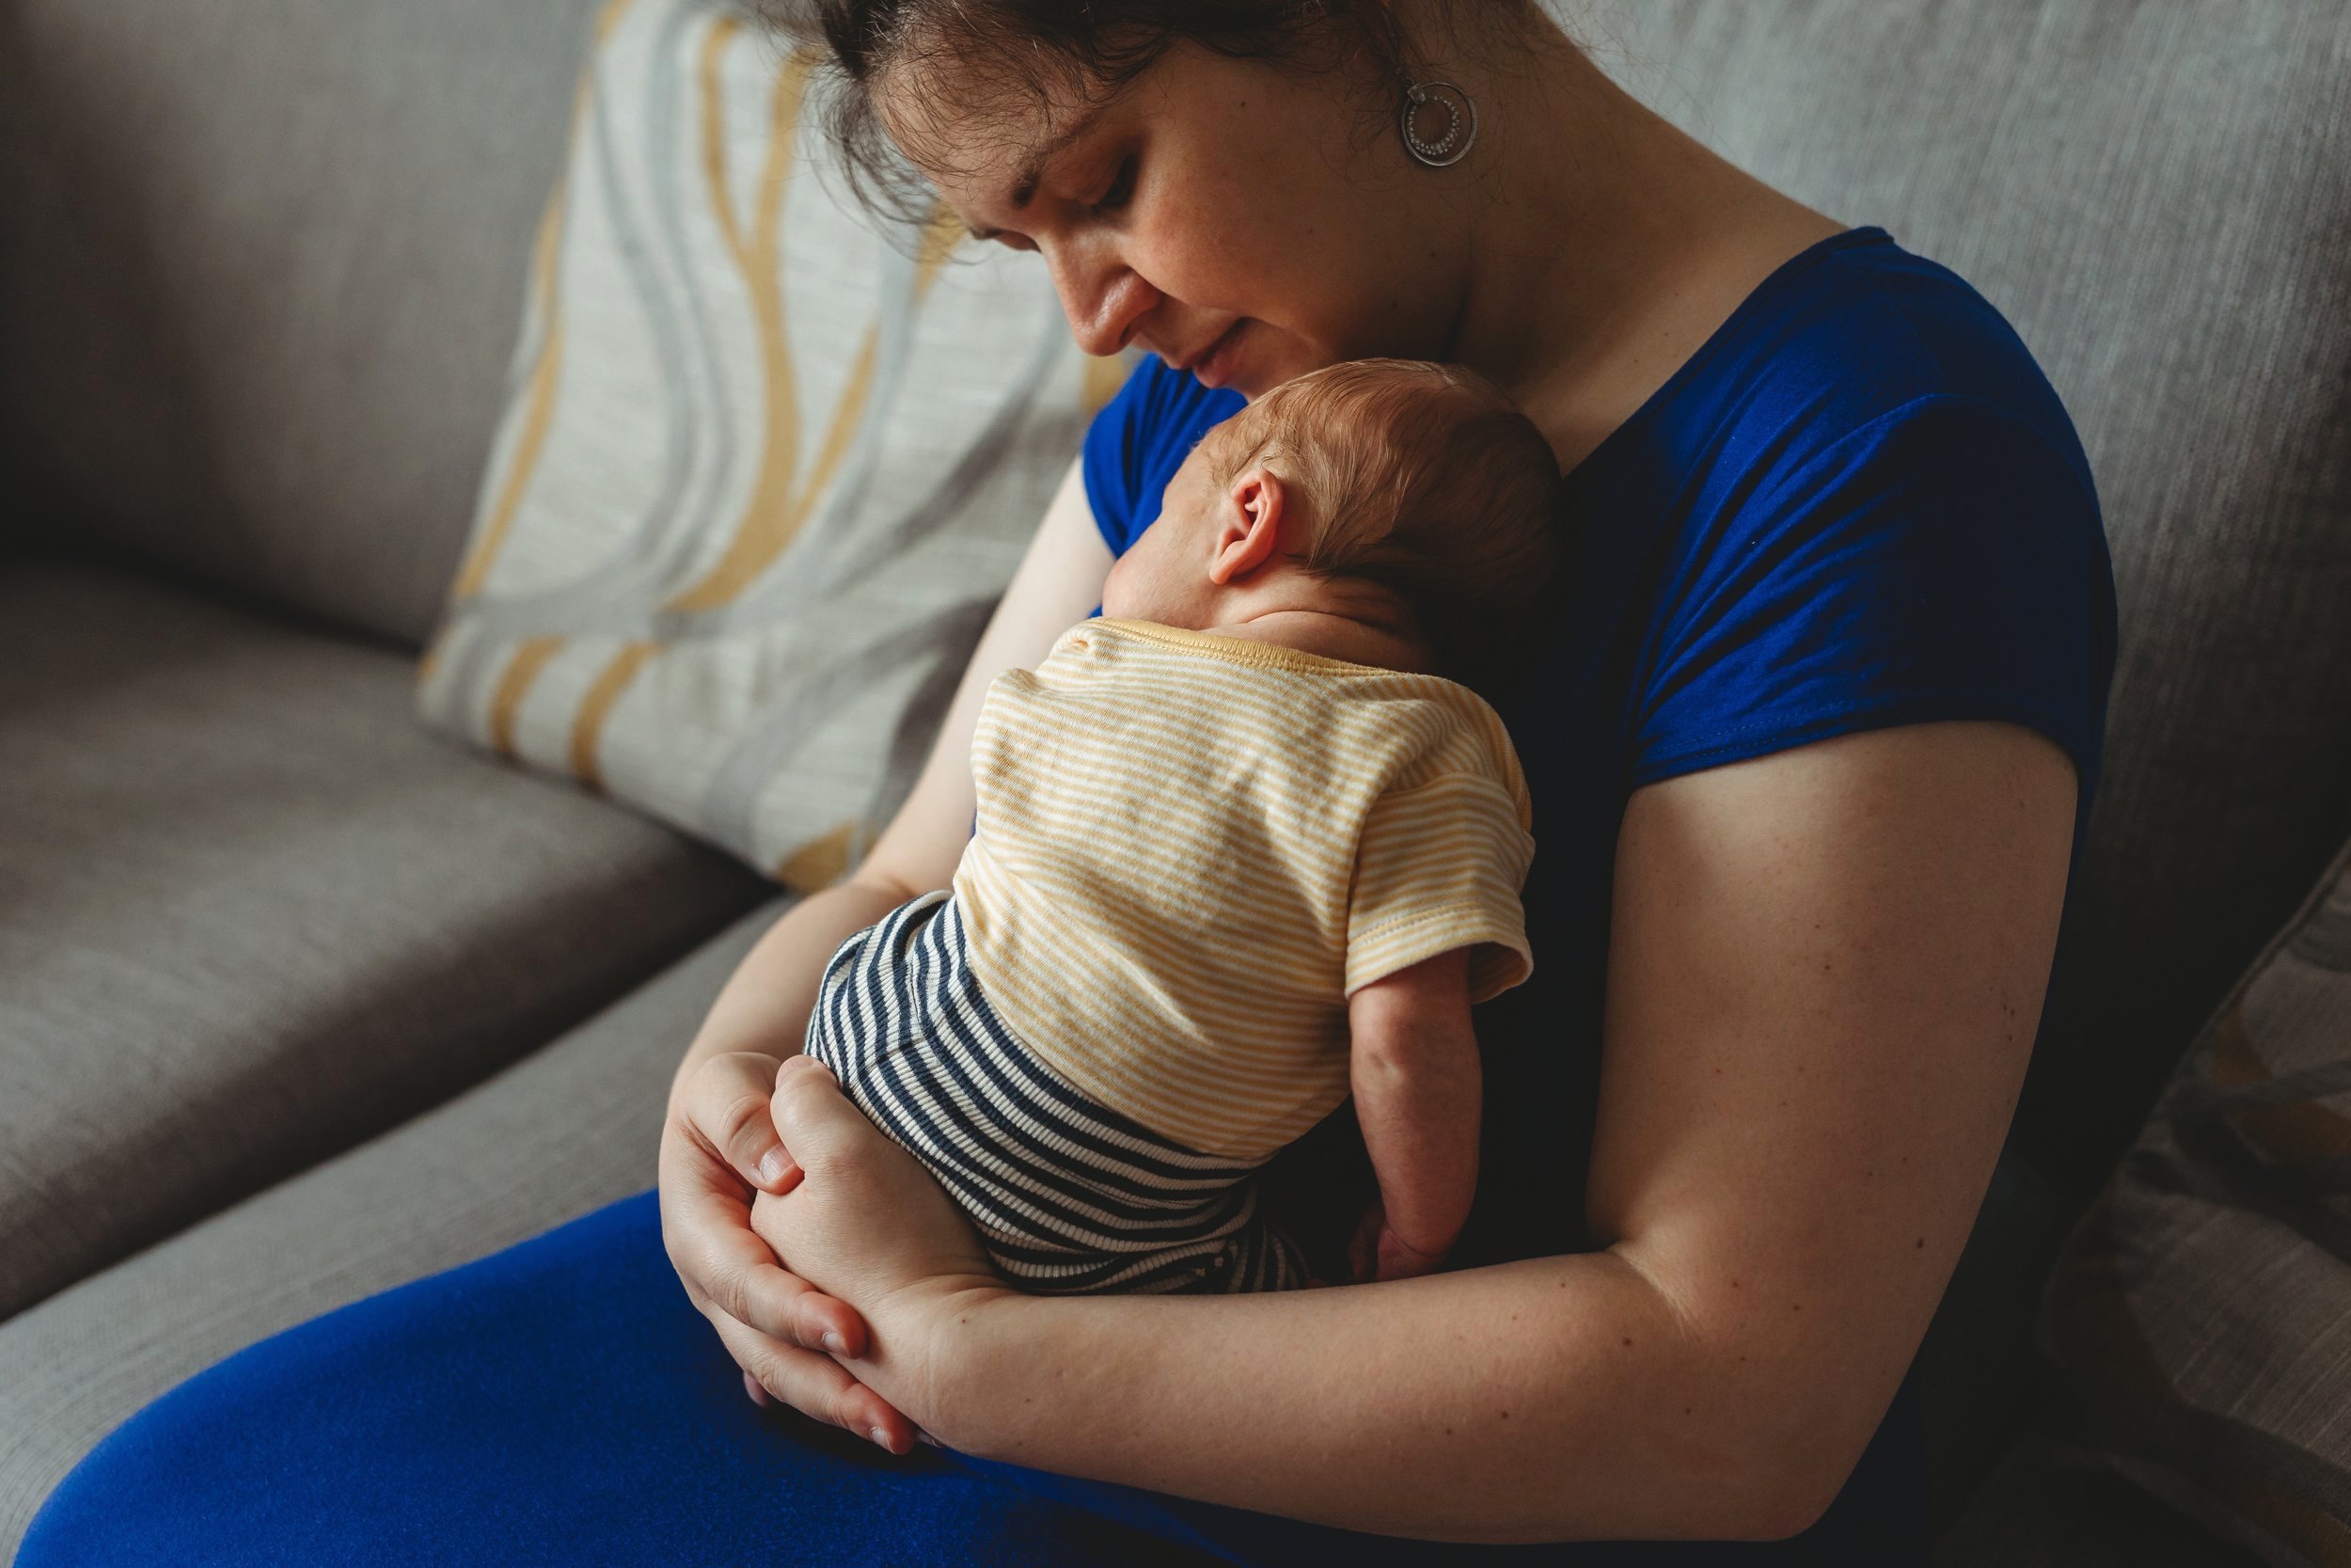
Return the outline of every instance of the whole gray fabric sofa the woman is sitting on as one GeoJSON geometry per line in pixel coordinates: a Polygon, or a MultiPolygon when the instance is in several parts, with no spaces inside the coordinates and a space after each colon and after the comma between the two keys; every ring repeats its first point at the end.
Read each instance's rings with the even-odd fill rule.
{"type": "MultiPolygon", "coordinates": [[[[785,907],[426,733],[590,0],[0,0],[0,1542],[219,1356],[651,1185],[785,907]]],[[[1921,1349],[1947,1563],[2250,1561],[2052,1460],[2050,1258],[2351,835],[2351,7],[1617,0],[1606,66],[2024,331],[2123,649],[1921,1349]]]]}

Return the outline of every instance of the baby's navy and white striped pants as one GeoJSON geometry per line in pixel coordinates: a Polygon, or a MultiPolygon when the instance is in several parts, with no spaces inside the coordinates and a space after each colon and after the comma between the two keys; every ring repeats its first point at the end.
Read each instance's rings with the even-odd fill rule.
{"type": "Polygon", "coordinates": [[[806,1053],[945,1185],[1023,1291],[1288,1291],[1258,1213],[1265,1161],[1197,1154],[1096,1105],[1013,1037],[971,973],[964,912],[924,893],[825,964],[806,1053]]]}

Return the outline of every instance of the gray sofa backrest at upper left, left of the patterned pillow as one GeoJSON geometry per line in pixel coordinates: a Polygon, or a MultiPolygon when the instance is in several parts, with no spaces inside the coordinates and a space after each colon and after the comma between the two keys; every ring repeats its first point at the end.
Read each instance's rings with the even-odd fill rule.
{"type": "Polygon", "coordinates": [[[26,527],[421,644],[590,7],[0,7],[26,527]]]}

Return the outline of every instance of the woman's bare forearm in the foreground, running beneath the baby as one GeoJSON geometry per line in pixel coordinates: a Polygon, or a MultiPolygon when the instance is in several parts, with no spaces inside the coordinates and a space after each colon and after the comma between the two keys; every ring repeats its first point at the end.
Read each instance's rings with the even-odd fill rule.
{"type": "Polygon", "coordinates": [[[1246,1298],[971,1291],[940,1321],[952,1387],[910,1415],[983,1458],[1432,1540],[1810,1523],[1756,1368],[1615,1253],[1246,1298]]]}

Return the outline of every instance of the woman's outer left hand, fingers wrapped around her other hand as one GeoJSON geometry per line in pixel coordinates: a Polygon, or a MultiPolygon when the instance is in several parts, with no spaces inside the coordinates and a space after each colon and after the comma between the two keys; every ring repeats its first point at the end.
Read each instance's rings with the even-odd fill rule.
{"type": "Polygon", "coordinates": [[[781,1067],[773,1056],[729,1051],[679,1079],[661,1128],[661,1241],[755,1401],[773,1394],[905,1453],[915,1425],[832,1359],[865,1354],[865,1319],[778,1267],[752,1234],[752,1197],[802,1180],[769,1117],[781,1067]]]}

